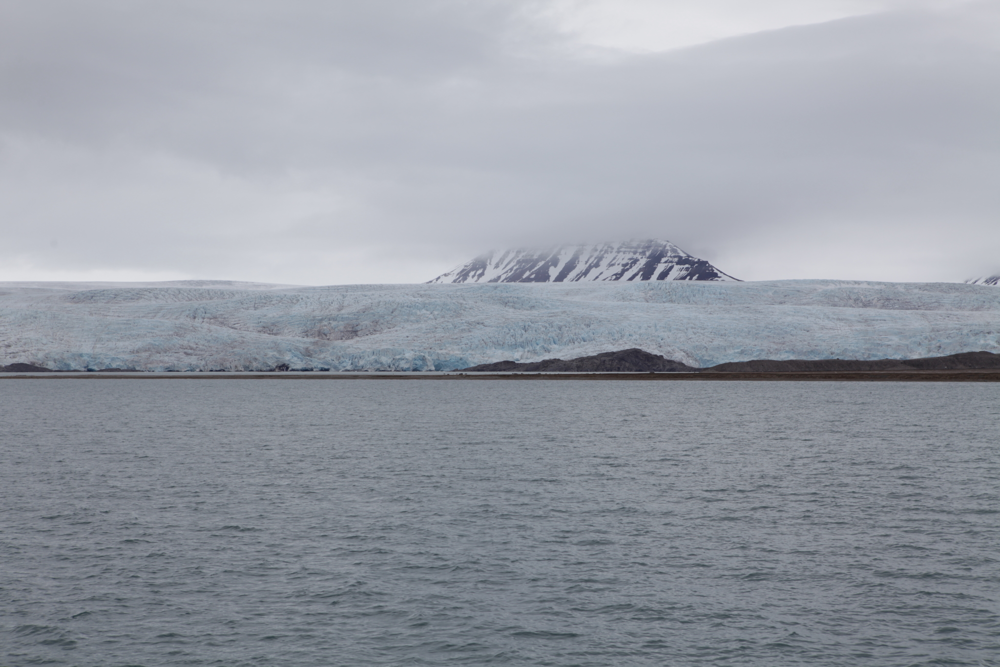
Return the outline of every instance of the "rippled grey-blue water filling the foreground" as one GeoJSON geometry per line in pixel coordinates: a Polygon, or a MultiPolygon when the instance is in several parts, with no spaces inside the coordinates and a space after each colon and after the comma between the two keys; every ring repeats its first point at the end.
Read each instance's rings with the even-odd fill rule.
{"type": "Polygon", "coordinates": [[[1000,385],[0,383],[0,664],[1000,665],[1000,385]]]}

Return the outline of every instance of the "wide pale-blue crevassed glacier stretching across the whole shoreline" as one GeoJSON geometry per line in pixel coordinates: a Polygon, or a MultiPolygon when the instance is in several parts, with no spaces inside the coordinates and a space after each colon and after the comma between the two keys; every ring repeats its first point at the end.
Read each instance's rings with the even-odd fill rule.
{"type": "Polygon", "coordinates": [[[837,280],[0,283],[0,362],[451,370],[639,347],[691,366],[1000,352],[1000,291],[837,280]]]}

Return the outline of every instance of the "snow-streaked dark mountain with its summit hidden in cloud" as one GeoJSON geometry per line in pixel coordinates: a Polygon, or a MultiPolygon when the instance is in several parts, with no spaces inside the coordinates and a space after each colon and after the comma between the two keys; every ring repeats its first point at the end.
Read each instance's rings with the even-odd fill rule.
{"type": "Polygon", "coordinates": [[[590,280],[739,282],[705,260],[660,239],[488,252],[427,282],[572,283],[590,280]]]}

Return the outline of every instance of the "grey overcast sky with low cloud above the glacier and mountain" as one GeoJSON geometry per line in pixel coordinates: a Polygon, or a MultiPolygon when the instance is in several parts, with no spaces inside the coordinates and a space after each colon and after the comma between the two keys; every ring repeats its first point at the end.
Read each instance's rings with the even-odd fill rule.
{"type": "Polygon", "coordinates": [[[0,0],[0,280],[1000,271],[1000,0],[0,0]]]}

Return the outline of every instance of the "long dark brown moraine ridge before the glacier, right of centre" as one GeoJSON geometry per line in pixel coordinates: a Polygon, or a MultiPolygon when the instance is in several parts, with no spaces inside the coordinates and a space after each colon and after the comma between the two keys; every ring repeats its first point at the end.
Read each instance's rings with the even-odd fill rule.
{"type": "Polygon", "coordinates": [[[480,364],[463,371],[479,372],[549,372],[549,373],[824,373],[831,371],[936,371],[1000,368],[1000,354],[992,352],[961,352],[944,357],[923,357],[920,359],[754,359],[733,361],[707,368],[693,368],[658,354],[650,354],[639,348],[603,352],[589,357],[578,357],[568,361],[545,359],[530,363],[498,361],[480,364]]]}

